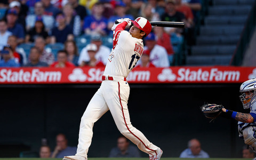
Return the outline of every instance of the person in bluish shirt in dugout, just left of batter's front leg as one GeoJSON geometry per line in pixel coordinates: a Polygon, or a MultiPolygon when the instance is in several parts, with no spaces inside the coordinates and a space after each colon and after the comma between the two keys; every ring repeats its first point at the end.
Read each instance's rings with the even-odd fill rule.
{"type": "MultiPolygon", "coordinates": [[[[64,53],[63,51],[59,52],[60,54],[64,53]]],[[[68,140],[65,134],[58,134],[56,136],[56,147],[52,153],[52,158],[63,158],[68,155],[75,155],[76,147],[68,146],[68,140]]]]}

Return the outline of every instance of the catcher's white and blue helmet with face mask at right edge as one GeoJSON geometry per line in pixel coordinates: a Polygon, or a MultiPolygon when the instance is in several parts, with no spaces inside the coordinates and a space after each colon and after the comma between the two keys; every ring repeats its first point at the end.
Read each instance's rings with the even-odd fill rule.
{"type": "Polygon", "coordinates": [[[256,97],[256,79],[250,79],[245,81],[240,86],[240,92],[242,95],[239,96],[241,102],[243,103],[244,109],[250,108],[255,102],[256,97]]]}

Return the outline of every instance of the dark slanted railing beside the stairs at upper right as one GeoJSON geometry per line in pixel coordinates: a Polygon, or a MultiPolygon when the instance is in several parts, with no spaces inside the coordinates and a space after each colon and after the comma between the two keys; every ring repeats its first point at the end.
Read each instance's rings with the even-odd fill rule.
{"type": "Polygon", "coordinates": [[[250,43],[250,39],[253,35],[253,31],[256,25],[256,1],[254,2],[244,29],[242,31],[241,37],[236,45],[236,50],[230,60],[229,65],[241,66],[246,52],[246,48],[250,43]]]}

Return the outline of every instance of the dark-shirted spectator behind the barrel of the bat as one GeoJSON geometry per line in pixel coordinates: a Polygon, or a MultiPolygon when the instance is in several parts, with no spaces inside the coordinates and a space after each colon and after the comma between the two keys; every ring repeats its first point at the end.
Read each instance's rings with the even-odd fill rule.
{"type": "MultiPolygon", "coordinates": [[[[167,0],[165,6],[165,13],[161,17],[162,21],[172,21],[172,22],[186,22],[185,15],[181,12],[176,11],[175,0],[167,0]]],[[[183,34],[183,29],[181,28],[165,28],[167,34],[172,33],[181,36],[183,34]]]]}

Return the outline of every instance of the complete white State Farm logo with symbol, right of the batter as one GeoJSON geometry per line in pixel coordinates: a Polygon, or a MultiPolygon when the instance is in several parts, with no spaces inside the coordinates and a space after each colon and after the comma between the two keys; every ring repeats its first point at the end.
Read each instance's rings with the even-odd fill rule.
{"type": "Polygon", "coordinates": [[[211,68],[210,70],[190,70],[189,68],[180,68],[177,75],[172,72],[172,69],[165,68],[162,73],[157,76],[161,82],[164,81],[187,81],[187,82],[202,82],[202,81],[239,81],[240,71],[234,70],[218,70],[211,68]]]}

